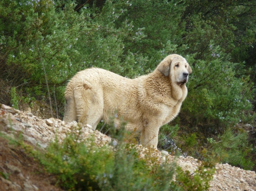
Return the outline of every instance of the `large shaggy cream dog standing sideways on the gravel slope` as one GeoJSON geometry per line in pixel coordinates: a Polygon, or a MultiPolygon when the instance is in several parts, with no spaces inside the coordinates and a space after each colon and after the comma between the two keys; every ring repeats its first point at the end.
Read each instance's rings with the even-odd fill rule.
{"type": "MultiPolygon", "coordinates": [[[[79,71],[67,84],[64,121],[93,126],[110,114],[128,121],[128,131],[142,131],[143,146],[157,147],[159,128],[173,120],[187,95],[192,72],[185,58],[167,56],[150,74],[128,79],[100,68],[79,71]]],[[[119,126],[119,119],[115,121],[119,126]]]]}

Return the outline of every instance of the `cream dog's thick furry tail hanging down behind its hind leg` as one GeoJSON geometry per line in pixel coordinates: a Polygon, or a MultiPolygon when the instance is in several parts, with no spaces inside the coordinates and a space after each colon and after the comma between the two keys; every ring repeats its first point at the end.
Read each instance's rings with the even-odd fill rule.
{"type": "Polygon", "coordinates": [[[69,82],[65,91],[65,114],[63,120],[67,123],[76,120],[76,102],[72,82],[69,82]]]}

